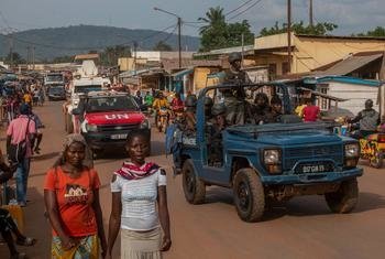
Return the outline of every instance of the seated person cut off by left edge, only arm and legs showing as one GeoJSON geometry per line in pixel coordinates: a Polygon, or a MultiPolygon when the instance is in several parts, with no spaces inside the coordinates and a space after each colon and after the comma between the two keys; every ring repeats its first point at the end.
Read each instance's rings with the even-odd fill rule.
{"type": "MultiPolygon", "coordinates": [[[[15,168],[10,168],[2,159],[2,152],[0,150],[0,184],[12,179],[15,168]]],[[[18,228],[18,225],[13,220],[10,212],[6,208],[0,208],[0,234],[7,242],[10,251],[11,259],[26,258],[26,255],[19,252],[15,245],[19,246],[34,246],[37,241],[34,238],[24,236],[18,228]],[[15,237],[15,240],[13,239],[15,237]]]]}

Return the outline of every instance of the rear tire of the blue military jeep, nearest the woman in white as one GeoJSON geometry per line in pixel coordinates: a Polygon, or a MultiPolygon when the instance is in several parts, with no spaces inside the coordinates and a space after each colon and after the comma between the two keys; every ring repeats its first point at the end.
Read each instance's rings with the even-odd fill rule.
{"type": "Polygon", "coordinates": [[[182,175],[183,190],[186,201],[190,204],[204,203],[206,196],[206,185],[196,174],[193,165],[193,160],[188,159],[185,161],[182,169],[182,175]]]}

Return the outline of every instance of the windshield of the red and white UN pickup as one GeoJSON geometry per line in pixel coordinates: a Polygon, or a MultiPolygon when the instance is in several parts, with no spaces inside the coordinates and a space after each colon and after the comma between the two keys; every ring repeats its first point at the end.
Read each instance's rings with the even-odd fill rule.
{"type": "Polygon", "coordinates": [[[108,96],[89,98],[86,105],[87,112],[138,109],[139,107],[131,96],[108,96]]]}

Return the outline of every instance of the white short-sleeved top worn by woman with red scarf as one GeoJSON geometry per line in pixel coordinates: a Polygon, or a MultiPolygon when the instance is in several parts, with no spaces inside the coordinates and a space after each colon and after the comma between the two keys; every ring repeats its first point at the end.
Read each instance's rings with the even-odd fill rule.
{"type": "Polygon", "coordinates": [[[156,211],[157,187],[166,185],[166,175],[156,173],[140,180],[127,180],[117,175],[111,192],[121,192],[121,228],[147,231],[160,226],[156,211]]]}

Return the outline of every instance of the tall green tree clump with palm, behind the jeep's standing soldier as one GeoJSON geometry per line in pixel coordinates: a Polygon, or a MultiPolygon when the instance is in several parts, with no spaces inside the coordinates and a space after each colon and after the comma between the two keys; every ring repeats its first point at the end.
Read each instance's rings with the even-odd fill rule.
{"type": "Polygon", "coordinates": [[[254,34],[250,31],[249,22],[243,20],[242,22],[227,23],[223,9],[220,7],[210,8],[206,12],[206,17],[199,18],[198,21],[206,23],[199,30],[201,52],[240,46],[242,34],[245,44],[252,44],[254,41],[254,34]]]}

